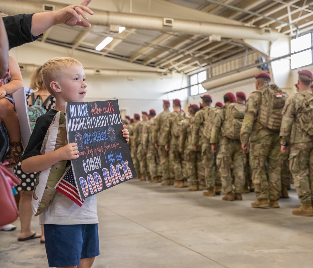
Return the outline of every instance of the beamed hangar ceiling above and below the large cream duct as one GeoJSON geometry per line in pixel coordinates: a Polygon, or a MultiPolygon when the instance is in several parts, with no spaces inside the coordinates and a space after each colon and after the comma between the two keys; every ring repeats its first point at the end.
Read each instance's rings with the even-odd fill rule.
{"type": "MultiPolygon", "coordinates": [[[[30,7],[41,6],[43,3],[59,7],[73,2],[12,0],[1,4],[1,10],[9,15],[22,13],[13,8],[19,3],[29,3],[30,7]]],[[[184,19],[270,28],[273,32],[294,37],[313,30],[312,6],[313,0],[93,0],[89,7],[95,14],[99,10],[173,18],[174,24],[175,19],[184,19]],[[180,17],[177,18],[178,16],[180,17]]],[[[28,11],[32,11],[31,8],[27,10],[30,13],[28,11]]],[[[123,26],[122,22],[120,26],[123,26]]],[[[52,43],[72,50],[97,53],[102,57],[186,74],[204,70],[210,64],[234,56],[256,52],[241,38],[192,34],[190,31],[164,31],[164,28],[145,29],[144,25],[137,28],[126,27],[121,32],[116,29],[112,32],[108,25],[95,23],[88,29],[57,25],[36,42],[52,43]],[[111,37],[111,42],[97,51],[97,45],[107,37],[111,37]]]]}

